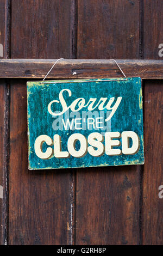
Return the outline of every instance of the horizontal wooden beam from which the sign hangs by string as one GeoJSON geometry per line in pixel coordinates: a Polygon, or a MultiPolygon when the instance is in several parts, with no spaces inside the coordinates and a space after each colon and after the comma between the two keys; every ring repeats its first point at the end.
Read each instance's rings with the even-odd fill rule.
{"type": "MultiPolygon", "coordinates": [[[[43,78],[56,59],[1,59],[0,78],[43,78]]],[[[163,60],[117,59],[127,77],[163,79],[163,60]]],[[[48,78],[122,77],[111,59],[59,60],[48,78]]]]}

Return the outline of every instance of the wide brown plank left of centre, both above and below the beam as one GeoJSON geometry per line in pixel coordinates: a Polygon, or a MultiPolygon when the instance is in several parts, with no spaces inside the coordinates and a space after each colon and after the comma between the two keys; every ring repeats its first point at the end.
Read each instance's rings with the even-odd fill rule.
{"type": "MultiPolygon", "coordinates": [[[[12,1],[11,57],[69,58],[70,10],[67,0],[12,1]]],[[[12,81],[9,244],[71,244],[73,175],[28,170],[26,103],[26,81],[12,81]]]]}

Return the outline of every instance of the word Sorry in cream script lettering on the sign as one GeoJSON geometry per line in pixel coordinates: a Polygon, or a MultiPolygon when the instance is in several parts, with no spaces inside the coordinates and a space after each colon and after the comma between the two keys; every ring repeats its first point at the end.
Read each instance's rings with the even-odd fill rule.
{"type": "Polygon", "coordinates": [[[83,107],[87,107],[88,111],[93,111],[95,108],[98,107],[99,111],[104,110],[105,108],[108,110],[111,110],[111,113],[109,115],[108,118],[105,119],[105,121],[108,121],[109,119],[112,118],[112,116],[114,115],[114,113],[116,112],[118,106],[120,105],[120,102],[122,100],[122,97],[117,97],[117,100],[114,104],[114,106],[111,107],[112,103],[115,100],[115,97],[111,97],[108,101],[108,103],[106,103],[106,101],[108,100],[107,97],[101,97],[99,99],[99,101],[95,104],[95,102],[97,101],[97,98],[90,98],[89,101],[85,104],[85,99],[84,98],[78,98],[76,100],[74,100],[70,106],[67,106],[67,103],[63,97],[63,92],[68,92],[68,96],[71,97],[72,93],[70,89],[62,89],[59,93],[59,100],[52,100],[49,105],[48,105],[48,112],[53,115],[54,117],[64,114],[69,108],[71,109],[71,111],[76,112],[76,111],[80,111],[83,107]],[[59,113],[56,113],[52,111],[51,106],[53,103],[60,103],[62,106],[62,111],[59,113]],[[104,104],[106,103],[106,105],[104,106],[104,104]]]}

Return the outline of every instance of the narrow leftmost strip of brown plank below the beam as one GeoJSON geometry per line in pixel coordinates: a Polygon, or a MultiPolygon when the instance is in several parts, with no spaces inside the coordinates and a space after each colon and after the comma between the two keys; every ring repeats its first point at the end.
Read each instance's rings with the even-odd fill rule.
{"type": "Polygon", "coordinates": [[[0,185],[3,188],[3,197],[1,200],[1,234],[0,234],[0,244],[7,245],[8,241],[8,186],[9,186],[9,116],[10,116],[10,107],[9,107],[9,95],[10,88],[7,81],[2,80],[0,82],[0,104],[1,104],[1,145],[0,145],[0,154],[1,154],[1,164],[0,164],[0,185]]]}

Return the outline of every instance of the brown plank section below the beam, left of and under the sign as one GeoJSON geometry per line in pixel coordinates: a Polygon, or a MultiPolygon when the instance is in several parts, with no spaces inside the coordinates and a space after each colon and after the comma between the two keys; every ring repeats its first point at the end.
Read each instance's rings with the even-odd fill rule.
{"type": "Polygon", "coordinates": [[[26,81],[11,84],[9,245],[68,243],[70,172],[28,170],[26,81]]]}

